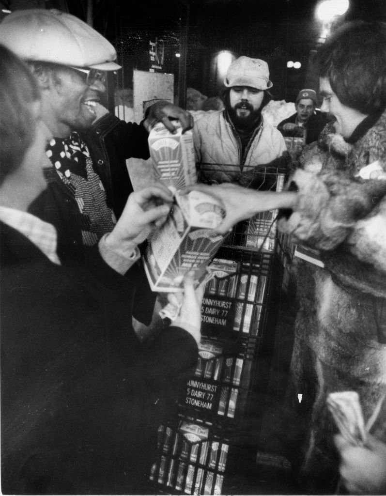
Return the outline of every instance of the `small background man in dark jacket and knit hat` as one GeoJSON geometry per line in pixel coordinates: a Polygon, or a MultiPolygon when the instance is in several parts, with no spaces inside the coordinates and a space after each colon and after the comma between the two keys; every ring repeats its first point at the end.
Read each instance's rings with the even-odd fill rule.
{"type": "Polygon", "coordinates": [[[299,91],[295,102],[296,114],[281,121],[277,128],[284,136],[305,136],[305,144],[318,141],[328,117],[316,110],[317,105],[317,94],[313,89],[299,91]]]}

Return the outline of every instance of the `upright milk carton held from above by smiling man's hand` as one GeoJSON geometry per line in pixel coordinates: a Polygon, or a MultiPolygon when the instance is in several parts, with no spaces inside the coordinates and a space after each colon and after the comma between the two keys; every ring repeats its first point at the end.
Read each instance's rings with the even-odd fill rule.
{"type": "Polygon", "coordinates": [[[182,134],[182,126],[173,122],[176,134],[171,133],[162,123],[156,124],[148,137],[150,157],[153,161],[155,178],[173,192],[197,182],[195,167],[193,131],[182,134]]]}

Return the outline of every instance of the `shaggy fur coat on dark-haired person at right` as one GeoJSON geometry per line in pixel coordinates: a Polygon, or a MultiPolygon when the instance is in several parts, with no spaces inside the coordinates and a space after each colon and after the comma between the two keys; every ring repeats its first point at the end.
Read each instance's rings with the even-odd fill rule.
{"type": "Polygon", "coordinates": [[[303,168],[288,182],[297,205],[278,223],[295,242],[320,249],[324,263],[296,262],[289,397],[304,395],[310,493],[333,492],[337,481],[327,394],[356,390],[366,421],[386,391],[386,113],[361,131],[348,144],[327,126],[305,147],[303,168]]]}

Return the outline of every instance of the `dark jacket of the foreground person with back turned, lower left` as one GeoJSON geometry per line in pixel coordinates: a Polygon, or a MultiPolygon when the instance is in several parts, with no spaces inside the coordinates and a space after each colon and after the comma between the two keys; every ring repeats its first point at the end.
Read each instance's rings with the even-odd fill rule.
{"type": "Polygon", "coordinates": [[[144,348],[129,279],[101,259],[93,276],[56,265],[0,228],[2,494],[148,494],[195,341],[169,327],[144,348]]]}

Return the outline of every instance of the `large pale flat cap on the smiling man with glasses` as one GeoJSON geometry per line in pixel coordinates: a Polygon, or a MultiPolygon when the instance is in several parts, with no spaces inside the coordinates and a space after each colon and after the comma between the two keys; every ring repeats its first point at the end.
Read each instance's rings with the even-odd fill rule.
{"type": "Polygon", "coordinates": [[[0,43],[21,59],[116,70],[113,45],[74,15],[56,9],[21,9],[0,23],[0,43]]]}

